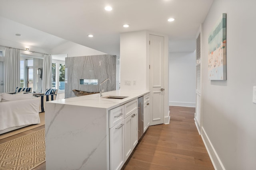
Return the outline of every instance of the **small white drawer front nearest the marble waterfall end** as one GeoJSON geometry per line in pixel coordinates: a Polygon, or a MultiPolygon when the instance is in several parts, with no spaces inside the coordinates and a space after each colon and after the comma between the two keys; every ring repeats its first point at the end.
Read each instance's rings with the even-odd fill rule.
{"type": "Polygon", "coordinates": [[[117,125],[122,120],[124,120],[124,105],[109,111],[109,128],[117,125]]]}

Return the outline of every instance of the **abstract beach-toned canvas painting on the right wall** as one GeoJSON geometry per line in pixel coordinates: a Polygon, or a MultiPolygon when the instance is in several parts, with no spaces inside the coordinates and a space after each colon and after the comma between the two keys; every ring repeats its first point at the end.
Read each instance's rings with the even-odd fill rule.
{"type": "Polygon", "coordinates": [[[226,13],[223,13],[208,37],[208,79],[227,80],[226,13]]]}

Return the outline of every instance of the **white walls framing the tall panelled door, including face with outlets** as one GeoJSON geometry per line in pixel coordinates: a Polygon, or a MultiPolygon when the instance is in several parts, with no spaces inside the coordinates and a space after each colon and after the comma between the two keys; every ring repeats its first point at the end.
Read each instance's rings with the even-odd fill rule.
{"type": "Polygon", "coordinates": [[[120,34],[120,87],[122,90],[150,89],[150,34],[164,37],[164,123],[169,123],[168,36],[145,30],[120,34]],[[130,80],[131,84],[125,85],[125,80],[130,80]]]}

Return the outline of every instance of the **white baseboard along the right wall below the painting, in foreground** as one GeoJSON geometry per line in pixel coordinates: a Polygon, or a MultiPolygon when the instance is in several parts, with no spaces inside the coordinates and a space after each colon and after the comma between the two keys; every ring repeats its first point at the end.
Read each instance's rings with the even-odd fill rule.
{"type": "Polygon", "coordinates": [[[212,164],[214,166],[215,170],[225,170],[216,150],[214,149],[208,135],[206,134],[206,132],[204,131],[204,127],[202,127],[202,134],[201,137],[204,141],[204,145],[206,147],[206,150],[210,156],[210,159],[212,161],[212,164]]]}

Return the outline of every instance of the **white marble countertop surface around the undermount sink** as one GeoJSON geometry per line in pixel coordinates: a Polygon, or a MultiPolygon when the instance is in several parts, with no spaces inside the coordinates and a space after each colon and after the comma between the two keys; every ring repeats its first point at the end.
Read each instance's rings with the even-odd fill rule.
{"type": "Polygon", "coordinates": [[[73,105],[73,106],[85,106],[85,107],[98,107],[98,108],[106,108],[112,109],[114,107],[121,106],[127,102],[130,102],[140,96],[144,96],[145,94],[149,93],[148,90],[115,90],[110,92],[103,92],[102,97],[100,94],[90,94],[86,96],[79,96],[74,98],[67,98],[67,99],[60,99],[54,100],[47,103],[54,103],[54,104],[66,104],[66,105],[73,105]],[[104,98],[106,96],[128,96],[124,99],[108,99],[104,98]]]}

